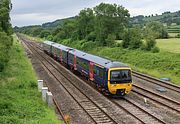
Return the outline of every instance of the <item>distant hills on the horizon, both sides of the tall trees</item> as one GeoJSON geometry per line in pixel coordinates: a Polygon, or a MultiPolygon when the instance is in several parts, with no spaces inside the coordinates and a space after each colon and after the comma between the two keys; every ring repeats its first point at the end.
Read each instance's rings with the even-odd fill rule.
{"type": "MultiPolygon", "coordinates": [[[[64,19],[58,19],[53,22],[47,22],[42,25],[32,25],[32,26],[24,26],[24,27],[14,27],[14,31],[23,31],[23,32],[29,32],[28,29],[50,29],[53,30],[54,28],[61,27],[63,23],[66,20],[73,20],[75,17],[69,17],[69,18],[64,18],[64,19]]],[[[159,21],[163,23],[167,30],[168,33],[180,33],[180,10],[177,12],[164,12],[161,15],[149,15],[149,16],[135,16],[130,18],[130,26],[135,26],[135,25],[141,25],[142,27],[150,22],[150,21],[159,21]]]]}

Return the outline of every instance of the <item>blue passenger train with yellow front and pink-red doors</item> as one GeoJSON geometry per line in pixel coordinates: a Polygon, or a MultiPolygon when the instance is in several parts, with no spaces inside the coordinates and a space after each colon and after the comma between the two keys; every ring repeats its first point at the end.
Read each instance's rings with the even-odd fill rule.
{"type": "Polygon", "coordinates": [[[105,94],[122,97],[132,89],[132,71],[127,64],[52,41],[44,41],[41,46],[46,54],[82,74],[105,94]]]}

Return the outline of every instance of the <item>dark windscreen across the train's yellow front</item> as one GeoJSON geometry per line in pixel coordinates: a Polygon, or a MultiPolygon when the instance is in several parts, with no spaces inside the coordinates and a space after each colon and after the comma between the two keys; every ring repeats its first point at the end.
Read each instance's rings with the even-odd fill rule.
{"type": "Polygon", "coordinates": [[[132,82],[130,70],[113,70],[111,71],[110,82],[112,84],[132,82]]]}

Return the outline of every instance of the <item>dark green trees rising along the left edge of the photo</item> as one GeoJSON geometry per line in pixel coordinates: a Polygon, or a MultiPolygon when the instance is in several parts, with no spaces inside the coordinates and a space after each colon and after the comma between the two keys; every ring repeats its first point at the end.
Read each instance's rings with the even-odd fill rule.
{"type": "Polygon", "coordinates": [[[11,9],[11,0],[0,0],[0,72],[9,60],[9,50],[13,43],[9,16],[11,9]]]}

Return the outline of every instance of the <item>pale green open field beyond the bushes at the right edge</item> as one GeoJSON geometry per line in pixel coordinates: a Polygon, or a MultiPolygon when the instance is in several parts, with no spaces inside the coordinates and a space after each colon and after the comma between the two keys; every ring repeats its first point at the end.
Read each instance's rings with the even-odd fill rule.
{"type": "Polygon", "coordinates": [[[157,46],[167,52],[180,53],[180,38],[157,39],[157,46]]]}

